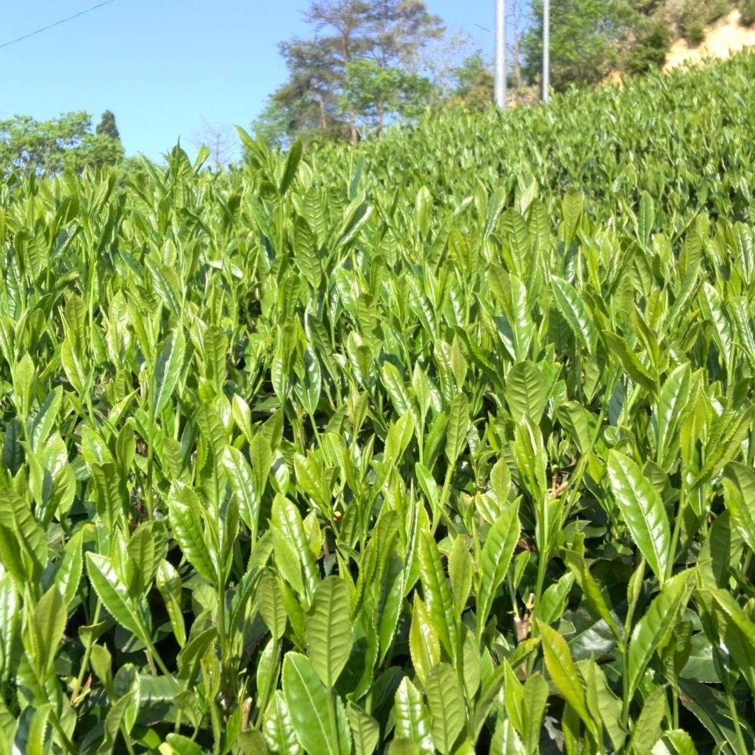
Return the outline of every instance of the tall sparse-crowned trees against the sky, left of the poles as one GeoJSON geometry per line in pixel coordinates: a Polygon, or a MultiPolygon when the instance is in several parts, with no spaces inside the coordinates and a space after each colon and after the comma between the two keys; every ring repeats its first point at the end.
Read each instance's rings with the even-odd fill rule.
{"type": "Polygon", "coordinates": [[[442,32],[421,0],[314,0],[304,16],[313,39],[283,42],[288,81],[253,125],[285,144],[294,137],[359,140],[418,112],[429,85],[419,52],[442,32]]]}

